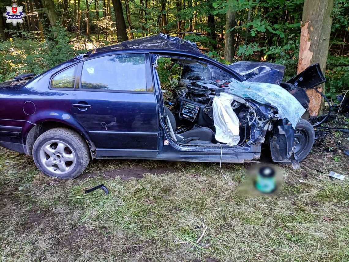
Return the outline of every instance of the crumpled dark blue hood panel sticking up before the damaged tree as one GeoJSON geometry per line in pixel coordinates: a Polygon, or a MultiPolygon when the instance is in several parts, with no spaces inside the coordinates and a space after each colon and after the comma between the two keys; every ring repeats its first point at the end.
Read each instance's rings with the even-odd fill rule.
{"type": "Polygon", "coordinates": [[[245,81],[280,85],[285,67],[267,62],[239,61],[228,67],[244,77],[245,81]]]}

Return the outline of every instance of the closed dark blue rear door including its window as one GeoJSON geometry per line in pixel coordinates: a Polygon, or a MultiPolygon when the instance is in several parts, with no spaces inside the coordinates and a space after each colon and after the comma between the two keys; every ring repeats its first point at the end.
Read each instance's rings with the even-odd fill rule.
{"type": "Polygon", "coordinates": [[[90,134],[97,156],[155,157],[158,121],[149,55],[91,58],[80,70],[72,112],[90,134]]]}

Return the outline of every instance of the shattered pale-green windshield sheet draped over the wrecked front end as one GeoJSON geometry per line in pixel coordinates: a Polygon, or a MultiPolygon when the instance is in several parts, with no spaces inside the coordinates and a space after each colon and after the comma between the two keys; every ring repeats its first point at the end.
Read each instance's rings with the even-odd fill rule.
{"type": "Polygon", "coordinates": [[[277,109],[280,118],[287,118],[295,128],[305,112],[302,104],[279,85],[272,83],[239,82],[231,79],[228,92],[242,98],[251,98],[261,104],[270,104],[277,109]]]}

